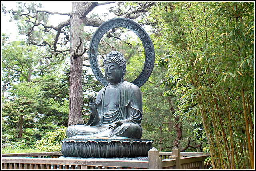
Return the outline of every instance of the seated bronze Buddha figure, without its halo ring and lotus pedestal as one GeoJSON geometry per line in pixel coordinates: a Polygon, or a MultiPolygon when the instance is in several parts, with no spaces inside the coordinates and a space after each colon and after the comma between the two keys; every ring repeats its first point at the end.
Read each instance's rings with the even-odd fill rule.
{"type": "Polygon", "coordinates": [[[124,81],[126,60],[122,53],[113,51],[103,65],[108,85],[96,100],[90,97],[88,122],[68,126],[68,138],[141,138],[142,94],[137,85],[124,81]]]}

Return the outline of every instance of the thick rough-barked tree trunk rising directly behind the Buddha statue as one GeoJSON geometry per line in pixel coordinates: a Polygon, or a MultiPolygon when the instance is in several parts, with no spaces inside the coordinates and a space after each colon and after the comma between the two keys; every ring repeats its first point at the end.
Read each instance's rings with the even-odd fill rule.
{"type": "MultiPolygon", "coordinates": [[[[68,125],[84,124],[82,119],[82,57],[75,55],[79,44],[79,37],[84,31],[84,21],[79,17],[78,11],[86,2],[72,2],[73,15],[70,18],[70,94],[69,94],[69,119],[68,125]]],[[[78,53],[83,51],[83,43],[78,49],[78,53]]]]}

